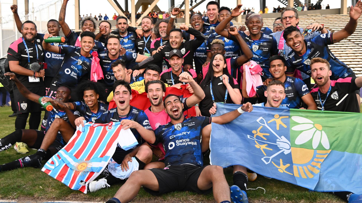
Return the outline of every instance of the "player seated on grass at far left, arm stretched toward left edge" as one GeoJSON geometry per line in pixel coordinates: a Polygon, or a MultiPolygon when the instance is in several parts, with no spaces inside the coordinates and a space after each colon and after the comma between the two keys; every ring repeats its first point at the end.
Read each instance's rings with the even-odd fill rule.
{"type": "MultiPolygon", "coordinates": [[[[28,90],[22,84],[16,77],[14,73],[7,72],[5,75],[10,76],[10,79],[15,83],[20,93],[24,96],[24,98],[28,98],[31,101],[34,101],[39,104],[39,98],[41,96],[34,94],[28,90]]],[[[64,102],[68,102],[68,100],[71,98],[71,90],[70,88],[66,86],[61,86],[58,88],[56,93],[56,99],[63,100],[64,102]]],[[[48,119],[46,123],[46,129],[45,131],[41,130],[35,130],[35,129],[18,129],[14,131],[13,133],[9,134],[8,136],[5,136],[4,138],[0,139],[1,148],[0,151],[9,149],[13,144],[16,142],[24,142],[26,143],[30,148],[34,149],[40,149],[42,141],[44,140],[46,132],[49,130],[51,131],[50,127],[51,125],[54,125],[54,121],[56,119],[65,120],[65,122],[68,122],[68,114],[63,111],[61,108],[53,108],[51,111],[48,112],[48,119]]],[[[62,131],[64,134],[73,134],[74,129],[72,126],[67,123],[69,128],[66,128],[62,131]]],[[[58,131],[55,131],[56,138],[50,143],[49,148],[44,152],[46,154],[47,159],[51,158],[52,155],[57,153],[60,149],[62,149],[65,145],[64,139],[61,134],[58,133],[58,131]],[[47,152],[47,153],[46,153],[47,152]]],[[[13,170],[17,168],[22,167],[40,167],[41,163],[37,161],[31,161],[36,157],[35,154],[23,157],[21,159],[18,159],[16,161],[5,163],[4,165],[0,165],[0,171],[7,171],[7,170],[13,170]]]]}

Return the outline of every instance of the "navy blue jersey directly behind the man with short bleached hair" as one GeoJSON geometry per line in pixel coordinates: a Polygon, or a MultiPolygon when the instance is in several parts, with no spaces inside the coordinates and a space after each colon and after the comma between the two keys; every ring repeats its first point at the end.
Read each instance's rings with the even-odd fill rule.
{"type": "Polygon", "coordinates": [[[212,40],[215,39],[222,40],[225,43],[224,45],[225,58],[238,57],[241,55],[240,45],[239,42],[237,42],[237,40],[236,41],[229,40],[221,36],[220,34],[216,33],[215,30],[213,30],[212,34],[210,34],[210,36],[207,38],[207,46],[206,46],[207,52],[211,52],[211,42],[212,40]]]}

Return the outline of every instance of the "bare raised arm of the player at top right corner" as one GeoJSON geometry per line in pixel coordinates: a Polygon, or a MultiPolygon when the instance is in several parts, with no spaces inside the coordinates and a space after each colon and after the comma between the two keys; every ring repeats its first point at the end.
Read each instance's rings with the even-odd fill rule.
{"type": "Polygon", "coordinates": [[[359,0],[354,7],[351,6],[351,9],[349,11],[349,21],[347,25],[343,29],[333,33],[332,36],[333,43],[337,43],[341,40],[344,40],[345,38],[349,37],[351,34],[354,33],[354,31],[357,28],[358,18],[361,16],[361,14],[362,14],[362,3],[361,0],[359,0]]]}

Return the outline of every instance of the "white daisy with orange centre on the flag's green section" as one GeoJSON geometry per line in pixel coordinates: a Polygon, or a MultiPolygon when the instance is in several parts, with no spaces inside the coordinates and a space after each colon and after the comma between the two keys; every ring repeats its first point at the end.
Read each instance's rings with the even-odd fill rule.
{"type": "Polygon", "coordinates": [[[300,116],[292,116],[291,119],[299,123],[299,125],[292,127],[292,130],[303,130],[295,139],[295,144],[301,145],[313,138],[313,149],[316,149],[319,143],[321,143],[325,149],[329,149],[328,137],[324,130],[322,130],[322,125],[313,123],[313,121],[300,116]]]}

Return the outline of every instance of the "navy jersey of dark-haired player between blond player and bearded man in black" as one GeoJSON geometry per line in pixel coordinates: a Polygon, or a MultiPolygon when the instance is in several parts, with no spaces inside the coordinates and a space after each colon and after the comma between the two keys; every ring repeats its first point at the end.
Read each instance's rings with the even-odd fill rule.
{"type": "MultiPolygon", "coordinates": [[[[302,96],[309,93],[308,87],[303,80],[299,78],[287,76],[284,81],[285,86],[285,99],[283,99],[280,106],[288,108],[300,108],[302,107],[302,96]]],[[[262,85],[256,88],[256,96],[260,98],[259,102],[266,102],[264,92],[266,86],[262,85]]]]}

